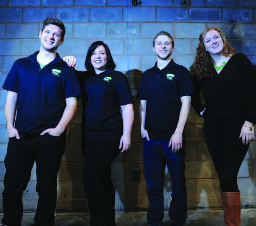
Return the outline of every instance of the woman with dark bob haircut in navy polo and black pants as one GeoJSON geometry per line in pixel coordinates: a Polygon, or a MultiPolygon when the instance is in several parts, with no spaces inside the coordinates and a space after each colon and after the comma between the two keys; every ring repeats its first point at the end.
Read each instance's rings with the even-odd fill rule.
{"type": "Polygon", "coordinates": [[[83,183],[90,226],[115,226],[111,163],[120,151],[130,148],[133,99],[126,76],[114,70],[116,65],[105,43],[91,44],[85,66],[87,72],[78,76],[83,93],[83,183]]]}

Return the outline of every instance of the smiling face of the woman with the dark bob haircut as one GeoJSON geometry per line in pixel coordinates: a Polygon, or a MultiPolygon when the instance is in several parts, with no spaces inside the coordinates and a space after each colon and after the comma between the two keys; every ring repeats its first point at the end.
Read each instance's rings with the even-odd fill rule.
{"type": "Polygon", "coordinates": [[[91,64],[96,74],[100,74],[105,70],[107,60],[107,53],[104,46],[99,46],[95,49],[95,51],[93,51],[91,55],[91,64]]]}

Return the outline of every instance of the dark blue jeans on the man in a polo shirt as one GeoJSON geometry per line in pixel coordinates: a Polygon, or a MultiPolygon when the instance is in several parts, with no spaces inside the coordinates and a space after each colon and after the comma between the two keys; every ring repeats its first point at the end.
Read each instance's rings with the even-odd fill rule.
{"type": "Polygon", "coordinates": [[[172,200],[169,217],[175,226],[185,225],[187,220],[187,188],[185,179],[185,139],[179,154],[173,154],[168,147],[169,140],[147,141],[143,138],[143,162],[148,183],[150,210],[147,220],[150,226],[161,226],[164,218],[163,177],[167,164],[172,182],[172,200]]]}

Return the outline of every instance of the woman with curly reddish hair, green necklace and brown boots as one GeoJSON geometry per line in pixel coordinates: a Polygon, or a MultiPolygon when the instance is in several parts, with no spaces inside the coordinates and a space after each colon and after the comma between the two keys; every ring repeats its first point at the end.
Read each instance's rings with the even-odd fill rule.
{"type": "Polygon", "coordinates": [[[206,28],[199,41],[193,77],[197,94],[192,96],[192,106],[204,118],[204,137],[219,177],[225,225],[240,226],[237,176],[254,140],[256,71],[246,55],[235,53],[219,28],[206,28]]]}

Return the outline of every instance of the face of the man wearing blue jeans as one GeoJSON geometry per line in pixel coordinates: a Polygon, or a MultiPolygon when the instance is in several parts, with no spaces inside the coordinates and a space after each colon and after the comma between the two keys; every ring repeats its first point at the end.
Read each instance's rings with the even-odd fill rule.
{"type": "Polygon", "coordinates": [[[172,51],[172,40],[167,35],[159,35],[155,40],[153,51],[156,52],[157,58],[161,60],[170,60],[172,51]]]}

